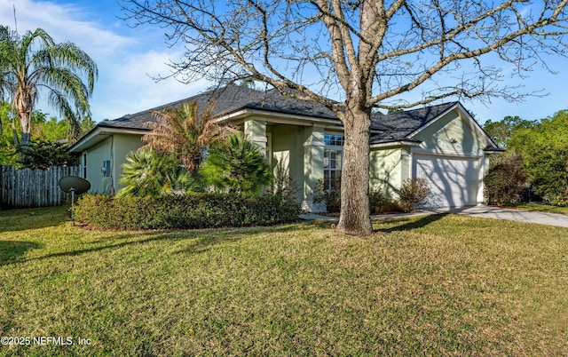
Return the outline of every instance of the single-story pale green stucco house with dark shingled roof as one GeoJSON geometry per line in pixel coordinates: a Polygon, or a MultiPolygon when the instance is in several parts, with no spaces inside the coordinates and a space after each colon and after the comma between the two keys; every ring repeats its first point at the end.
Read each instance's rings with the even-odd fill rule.
{"type": "MultiPolygon", "coordinates": [[[[227,86],[134,115],[99,123],[70,151],[81,156],[91,193],[115,194],[126,155],[143,144],[153,113],[195,101],[200,112],[213,101],[212,115],[232,124],[266,153],[274,173],[292,178],[306,210],[318,211],[313,196],[341,177],[343,124],[326,107],[292,99],[279,91],[227,86]]],[[[483,202],[489,156],[501,150],[459,102],[390,115],[374,115],[371,126],[370,186],[388,194],[409,178],[427,178],[430,207],[483,202]]]]}

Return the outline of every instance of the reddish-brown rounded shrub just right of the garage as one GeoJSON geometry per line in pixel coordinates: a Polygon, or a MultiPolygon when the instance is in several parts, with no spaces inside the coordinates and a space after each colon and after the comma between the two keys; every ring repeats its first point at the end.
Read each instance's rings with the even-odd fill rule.
{"type": "Polygon", "coordinates": [[[499,205],[516,202],[525,186],[522,157],[512,154],[492,158],[484,178],[485,201],[499,205]]]}

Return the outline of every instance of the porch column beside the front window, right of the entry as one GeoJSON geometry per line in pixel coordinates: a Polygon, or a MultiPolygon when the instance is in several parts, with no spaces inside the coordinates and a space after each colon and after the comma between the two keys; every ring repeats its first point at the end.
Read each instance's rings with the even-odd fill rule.
{"type": "Polygon", "coordinates": [[[304,199],[302,208],[311,212],[325,209],[322,205],[313,202],[316,187],[319,181],[323,182],[325,146],[323,127],[308,126],[304,128],[304,199]]]}

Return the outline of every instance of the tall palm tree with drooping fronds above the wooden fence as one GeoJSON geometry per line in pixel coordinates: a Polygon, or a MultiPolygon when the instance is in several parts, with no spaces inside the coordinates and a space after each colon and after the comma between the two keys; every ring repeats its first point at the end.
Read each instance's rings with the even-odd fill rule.
{"type": "Polygon", "coordinates": [[[75,44],[56,44],[42,28],[20,37],[0,26],[0,94],[12,100],[20,118],[22,147],[29,144],[32,111],[41,90],[69,123],[69,139],[77,139],[83,119],[91,116],[89,98],[97,75],[95,62],[75,44]]]}

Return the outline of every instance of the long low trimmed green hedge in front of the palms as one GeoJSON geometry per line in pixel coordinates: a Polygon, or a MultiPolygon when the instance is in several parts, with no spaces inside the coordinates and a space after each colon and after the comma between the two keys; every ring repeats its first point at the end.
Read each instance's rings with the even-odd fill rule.
{"type": "Polygon", "coordinates": [[[84,195],[75,220],[99,229],[193,229],[271,226],[294,222],[301,213],[294,200],[279,195],[188,194],[157,198],[84,195]]]}

